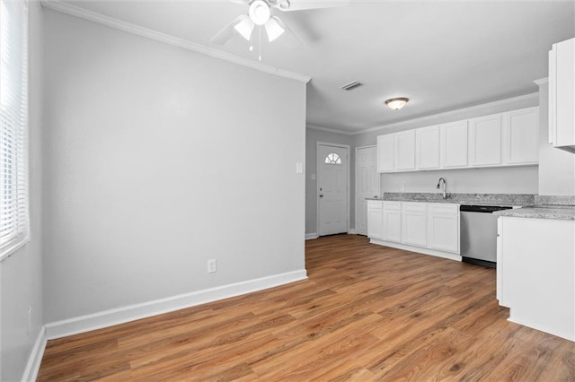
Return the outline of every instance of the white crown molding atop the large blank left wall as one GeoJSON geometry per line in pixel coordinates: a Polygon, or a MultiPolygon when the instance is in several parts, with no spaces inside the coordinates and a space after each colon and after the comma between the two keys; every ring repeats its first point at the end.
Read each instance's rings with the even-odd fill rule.
{"type": "Polygon", "coordinates": [[[287,70],[279,69],[275,66],[254,62],[247,58],[235,56],[221,50],[208,48],[205,45],[197,44],[187,39],[180,39],[157,30],[147,29],[136,24],[131,24],[129,22],[122,22],[121,20],[114,19],[113,17],[105,16],[102,13],[96,13],[72,4],[63,3],[60,0],[40,0],[40,3],[42,6],[60,13],[70,14],[72,16],[79,17],[90,22],[96,22],[116,30],[123,30],[137,36],[145,37],[146,39],[154,39],[155,41],[164,42],[165,44],[173,45],[174,47],[178,48],[188,49],[193,52],[218,58],[236,65],[243,65],[263,73],[273,74],[279,77],[288,78],[290,80],[304,83],[307,83],[311,80],[311,77],[304,74],[297,74],[287,70]]]}

